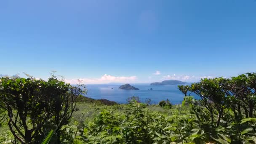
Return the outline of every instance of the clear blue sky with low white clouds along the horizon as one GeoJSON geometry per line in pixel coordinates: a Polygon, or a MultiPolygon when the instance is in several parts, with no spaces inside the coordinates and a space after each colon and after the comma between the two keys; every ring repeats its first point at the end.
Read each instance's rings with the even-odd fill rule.
{"type": "Polygon", "coordinates": [[[0,74],[75,83],[255,72],[255,0],[1,0],[0,74]]]}

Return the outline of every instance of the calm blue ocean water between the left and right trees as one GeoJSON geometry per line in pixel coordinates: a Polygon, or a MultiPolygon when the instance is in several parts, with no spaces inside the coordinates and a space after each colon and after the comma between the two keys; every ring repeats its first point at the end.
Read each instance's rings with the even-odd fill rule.
{"type": "Polygon", "coordinates": [[[86,85],[87,97],[93,99],[108,99],[120,104],[127,103],[128,97],[139,96],[141,102],[151,99],[152,104],[157,104],[162,100],[169,99],[172,104],[181,104],[184,94],[178,89],[178,85],[149,85],[132,84],[139,90],[119,89],[120,85],[86,85]],[[113,88],[113,89],[112,89],[113,88]],[[153,90],[149,90],[152,88],[153,90]]]}

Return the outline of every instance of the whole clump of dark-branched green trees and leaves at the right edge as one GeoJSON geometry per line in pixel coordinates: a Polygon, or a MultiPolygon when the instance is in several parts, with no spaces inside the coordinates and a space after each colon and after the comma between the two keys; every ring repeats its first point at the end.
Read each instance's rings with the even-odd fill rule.
{"type": "Polygon", "coordinates": [[[255,142],[255,80],[255,73],[247,73],[231,79],[202,79],[189,86],[188,91],[200,99],[185,96],[182,105],[196,116],[195,123],[204,131],[203,141],[255,142]]]}

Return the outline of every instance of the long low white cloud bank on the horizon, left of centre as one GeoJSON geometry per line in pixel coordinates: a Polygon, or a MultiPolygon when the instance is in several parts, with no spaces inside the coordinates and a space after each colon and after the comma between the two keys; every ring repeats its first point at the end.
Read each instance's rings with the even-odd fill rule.
{"type": "Polygon", "coordinates": [[[104,84],[104,83],[129,83],[134,82],[137,79],[136,76],[130,77],[115,77],[112,75],[103,75],[101,78],[80,78],[65,80],[66,83],[77,84],[78,80],[81,80],[83,84],[104,84]]]}

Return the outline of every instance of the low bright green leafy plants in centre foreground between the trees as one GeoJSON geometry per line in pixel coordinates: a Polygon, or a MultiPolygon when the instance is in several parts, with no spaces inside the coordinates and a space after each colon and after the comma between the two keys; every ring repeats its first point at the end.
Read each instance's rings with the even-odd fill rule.
{"type": "MultiPolygon", "coordinates": [[[[200,130],[193,124],[195,116],[186,107],[155,112],[142,103],[104,107],[96,117],[83,125],[65,125],[66,141],[82,143],[193,143],[200,141],[200,130]],[[165,113],[173,115],[165,115],[165,113]],[[67,138],[68,137],[68,138],[67,138]]],[[[202,140],[201,140],[202,141],[202,140]]]]}

